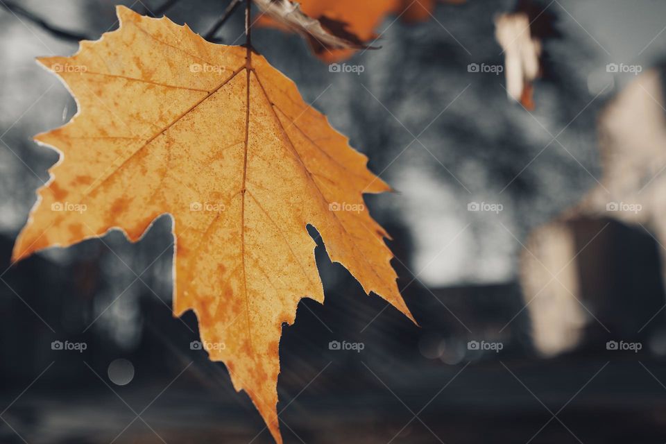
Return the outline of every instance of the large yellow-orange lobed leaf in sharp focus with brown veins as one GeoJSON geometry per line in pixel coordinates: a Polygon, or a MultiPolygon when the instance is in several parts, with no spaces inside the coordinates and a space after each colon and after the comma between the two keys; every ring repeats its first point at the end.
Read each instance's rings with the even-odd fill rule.
{"type": "Polygon", "coordinates": [[[323,302],[313,225],[327,252],[409,318],[363,193],[389,187],[296,85],[250,46],[206,42],[187,26],[117,8],[120,28],[42,58],[78,113],[35,139],[60,161],[13,257],[119,228],[137,241],[173,218],[175,314],[194,310],[278,443],[278,344],[308,296],[323,302]]]}

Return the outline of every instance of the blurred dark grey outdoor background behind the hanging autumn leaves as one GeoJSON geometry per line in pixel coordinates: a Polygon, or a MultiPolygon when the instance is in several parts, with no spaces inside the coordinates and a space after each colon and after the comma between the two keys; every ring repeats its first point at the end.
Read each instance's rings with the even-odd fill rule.
{"type": "MultiPolygon", "coordinates": [[[[227,5],[121,3],[168,4],[201,34],[227,5]]],[[[76,112],[34,61],[76,41],[35,19],[96,39],[117,28],[115,4],[0,0],[0,443],[270,443],[224,366],[191,350],[194,315],[171,316],[169,217],[137,244],[112,232],[10,264],[58,160],[32,137],[76,112]]],[[[468,0],[433,16],[387,17],[382,49],[345,61],[361,74],[253,32],[397,190],[366,201],[420,323],[364,296],[320,241],[326,305],[303,300],[280,343],[285,442],[665,442],[666,3],[468,0]],[[504,65],[494,20],[515,10],[543,45],[534,110],[504,72],[468,70],[504,65]]],[[[241,10],[218,37],[244,41],[241,10]]]]}

